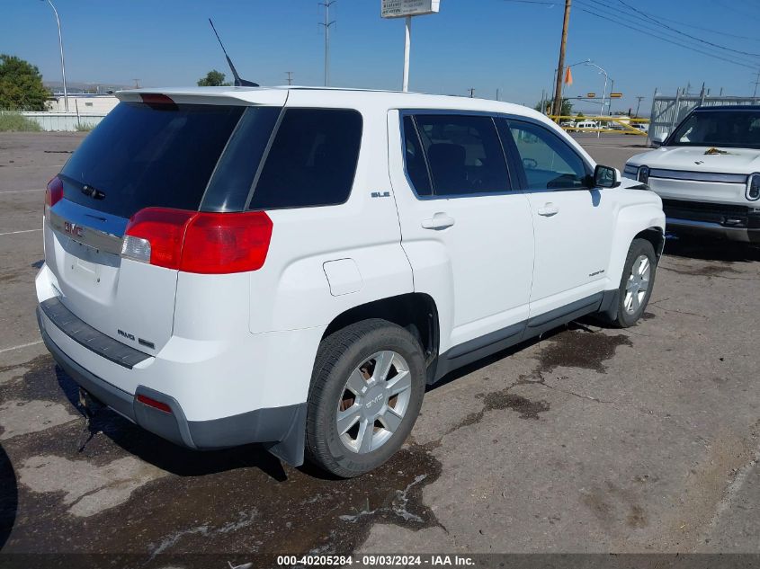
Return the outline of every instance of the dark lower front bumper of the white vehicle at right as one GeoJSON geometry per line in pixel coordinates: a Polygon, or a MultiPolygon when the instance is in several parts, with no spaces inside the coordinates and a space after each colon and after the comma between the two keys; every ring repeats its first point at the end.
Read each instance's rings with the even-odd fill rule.
{"type": "Polygon", "coordinates": [[[760,243],[760,211],[753,208],[702,201],[663,200],[663,209],[669,229],[760,243]]]}

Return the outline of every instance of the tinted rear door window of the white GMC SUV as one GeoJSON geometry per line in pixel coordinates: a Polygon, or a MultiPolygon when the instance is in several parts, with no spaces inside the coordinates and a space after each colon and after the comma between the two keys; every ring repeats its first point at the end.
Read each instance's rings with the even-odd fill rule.
{"type": "Polygon", "coordinates": [[[435,195],[509,190],[494,121],[468,115],[416,115],[435,195]]]}

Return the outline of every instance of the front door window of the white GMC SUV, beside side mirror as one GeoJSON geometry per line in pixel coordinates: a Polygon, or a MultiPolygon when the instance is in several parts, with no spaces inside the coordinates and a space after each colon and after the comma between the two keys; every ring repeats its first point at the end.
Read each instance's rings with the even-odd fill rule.
{"type": "Polygon", "coordinates": [[[528,189],[586,187],[586,164],[559,137],[528,122],[509,122],[508,128],[523,161],[528,189]]]}

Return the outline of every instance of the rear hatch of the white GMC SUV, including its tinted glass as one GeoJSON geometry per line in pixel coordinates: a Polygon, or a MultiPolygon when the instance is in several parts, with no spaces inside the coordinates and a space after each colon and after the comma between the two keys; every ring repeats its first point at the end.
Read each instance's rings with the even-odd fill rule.
{"type": "MultiPolygon", "coordinates": [[[[286,97],[285,92],[282,103],[286,97]]],[[[239,162],[246,143],[255,155],[251,132],[261,130],[259,138],[266,140],[282,104],[256,107],[208,93],[128,98],[137,100],[111,111],[51,181],[48,194],[55,203],[46,208],[45,258],[68,310],[153,354],[172,335],[178,271],[171,263],[122,257],[130,218],[146,208],[189,216],[201,209],[240,209],[258,160],[251,156],[254,173],[218,165],[226,152],[237,152],[239,162]],[[238,125],[246,125],[247,134],[234,144],[238,125]]]]}

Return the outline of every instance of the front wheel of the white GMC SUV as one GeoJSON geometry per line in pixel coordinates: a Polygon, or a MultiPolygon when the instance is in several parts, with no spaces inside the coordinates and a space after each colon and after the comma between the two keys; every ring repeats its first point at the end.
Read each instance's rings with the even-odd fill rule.
{"type": "Polygon", "coordinates": [[[638,322],[652,296],[656,270],[657,255],[652,244],[646,239],[634,239],[622,270],[617,316],[612,324],[627,328],[638,322]]]}

